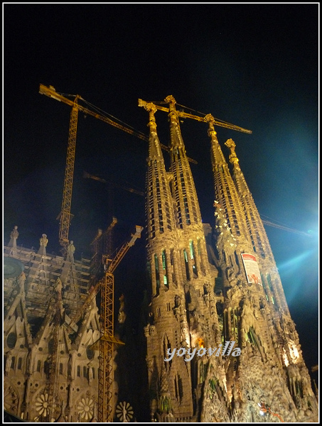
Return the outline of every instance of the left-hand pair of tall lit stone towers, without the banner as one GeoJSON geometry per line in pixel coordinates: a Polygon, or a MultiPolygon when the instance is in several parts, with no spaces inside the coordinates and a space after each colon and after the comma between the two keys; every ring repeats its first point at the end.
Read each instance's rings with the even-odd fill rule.
{"type": "MultiPolygon", "coordinates": [[[[221,342],[213,284],[198,198],[176,115],[168,97],[171,167],[166,168],[149,111],[149,158],[146,178],[148,266],[151,276],[150,322],[145,327],[151,417],[159,421],[196,420],[208,362],[167,351],[215,347],[221,342]]],[[[217,360],[215,360],[217,364],[217,360]]],[[[213,367],[212,367],[213,368],[213,367]]],[[[210,373],[210,369],[209,369],[210,373]]],[[[222,378],[224,372],[222,371],[222,378]]],[[[221,386],[224,385],[221,383],[221,386]]]]}

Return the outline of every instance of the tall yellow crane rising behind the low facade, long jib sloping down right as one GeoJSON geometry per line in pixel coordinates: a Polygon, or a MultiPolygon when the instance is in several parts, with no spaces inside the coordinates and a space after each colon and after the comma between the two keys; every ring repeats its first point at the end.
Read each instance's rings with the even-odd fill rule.
{"type": "MultiPolygon", "coordinates": [[[[63,188],[63,202],[60,214],[58,218],[60,220],[60,230],[59,230],[59,242],[63,247],[63,255],[65,256],[68,247],[68,234],[70,221],[73,219],[73,214],[70,213],[70,207],[72,204],[72,193],[73,193],[73,175],[74,175],[74,165],[75,165],[75,148],[76,148],[76,136],[77,136],[77,118],[78,111],[82,111],[87,115],[91,115],[95,117],[95,119],[100,119],[111,126],[117,127],[126,133],[129,133],[137,138],[142,139],[143,141],[149,141],[148,136],[144,135],[144,133],[140,133],[134,129],[130,129],[128,126],[124,126],[124,124],[119,124],[116,121],[109,119],[107,116],[103,116],[102,114],[98,114],[97,111],[92,111],[87,107],[82,107],[82,105],[78,104],[78,100],[82,100],[86,102],[85,99],[77,94],[75,95],[75,99],[71,100],[67,97],[63,96],[55,91],[53,86],[46,87],[44,84],[40,84],[39,93],[45,94],[48,97],[56,99],[59,102],[64,102],[65,104],[70,105],[72,107],[72,111],[70,114],[70,129],[69,129],[69,138],[68,138],[68,151],[67,151],[67,160],[66,160],[66,168],[65,168],[65,180],[64,180],[64,188],[63,188]]],[[[74,96],[73,96],[74,97],[74,96]]],[[[168,151],[168,147],[161,144],[161,148],[168,151]]],[[[188,158],[191,163],[197,163],[192,158],[188,158]]]]}

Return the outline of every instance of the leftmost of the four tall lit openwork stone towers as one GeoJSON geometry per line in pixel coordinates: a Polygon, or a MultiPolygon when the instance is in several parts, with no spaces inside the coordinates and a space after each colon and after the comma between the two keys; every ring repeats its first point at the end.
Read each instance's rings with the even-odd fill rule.
{"type": "MultiPolygon", "coordinates": [[[[146,361],[150,366],[149,386],[159,389],[160,373],[163,371],[163,385],[173,383],[176,374],[183,383],[190,383],[190,366],[181,359],[174,359],[172,367],[163,361],[166,351],[175,348],[184,340],[188,342],[188,324],[186,312],[180,318],[174,314],[176,297],[184,300],[183,273],[178,249],[178,229],[174,217],[173,197],[169,180],[171,176],[161,153],[159,137],[156,132],[154,104],[144,104],[149,111],[149,156],[146,168],[146,222],[147,222],[147,264],[151,279],[151,304],[149,324],[144,327],[146,336],[146,361]],[[177,343],[178,341],[178,343],[177,343]],[[162,344],[160,344],[162,342],[162,344]],[[188,367],[188,368],[187,368],[188,367]]],[[[164,389],[163,389],[164,391],[164,389]]],[[[151,417],[171,416],[170,401],[177,417],[192,415],[191,390],[187,390],[183,399],[178,403],[175,399],[173,386],[159,396],[158,403],[150,400],[151,417]],[[161,410],[162,408],[162,410],[161,410]],[[156,411],[157,410],[157,411],[156,411]]]]}

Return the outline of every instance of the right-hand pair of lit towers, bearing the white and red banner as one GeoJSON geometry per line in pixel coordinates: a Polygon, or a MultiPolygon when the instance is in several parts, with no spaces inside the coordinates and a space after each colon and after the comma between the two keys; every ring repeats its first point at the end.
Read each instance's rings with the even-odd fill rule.
{"type": "MultiPolygon", "coordinates": [[[[222,269],[225,339],[237,339],[241,356],[226,360],[232,421],[259,421],[266,403],[284,421],[316,414],[316,399],[289,315],[281,280],[262,220],[229,139],[233,178],[208,116],[215,182],[218,266],[222,269]],[[247,231],[245,231],[245,226],[247,231]],[[250,246],[249,246],[250,242],[250,246]]],[[[278,417],[278,416],[277,416],[278,417]]]]}

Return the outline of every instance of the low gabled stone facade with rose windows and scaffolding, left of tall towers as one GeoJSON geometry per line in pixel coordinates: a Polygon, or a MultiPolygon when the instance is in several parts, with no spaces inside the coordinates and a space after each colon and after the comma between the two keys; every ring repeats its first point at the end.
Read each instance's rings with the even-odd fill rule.
{"type": "Polygon", "coordinates": [[[29,422],[89,422],[97,416],[95,300],[70,325],[87,297],[90,262],[75,261],[73,244],[67,258],[47,254],[45,234],[38,251],[17,247],[16,228],[4,248],[4,410],[29,422]]]}

